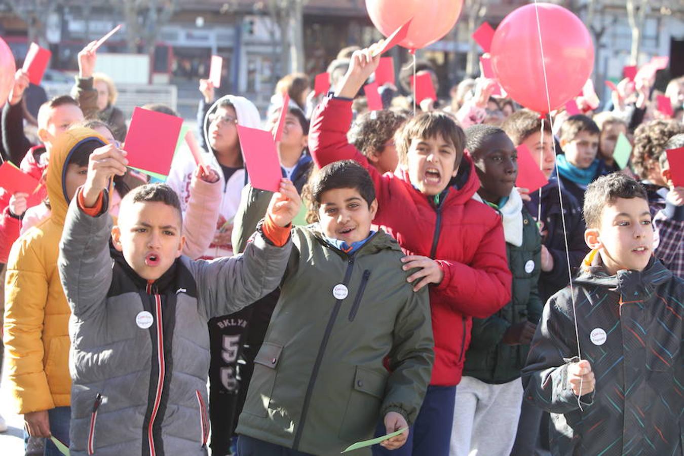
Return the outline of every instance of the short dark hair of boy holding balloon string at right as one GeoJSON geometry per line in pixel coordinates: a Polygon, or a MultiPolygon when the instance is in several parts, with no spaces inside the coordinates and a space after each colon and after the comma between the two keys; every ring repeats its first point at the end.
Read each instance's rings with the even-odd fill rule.
{"type": "Polygon", "coordinates": [[[583,211],[587,228],[598,228],[603,208],[618,198],[642,198],[648,202],[646,190],[634,178],[619,172],[601,176],[590,183],[584,193],[583,211]]]}

